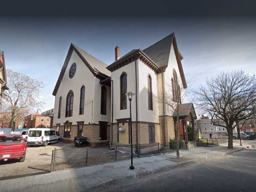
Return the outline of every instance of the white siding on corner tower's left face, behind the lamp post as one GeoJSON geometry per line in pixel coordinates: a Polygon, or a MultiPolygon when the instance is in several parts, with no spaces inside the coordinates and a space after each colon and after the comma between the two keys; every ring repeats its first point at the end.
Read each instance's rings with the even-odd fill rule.
{"type": "MultiPolygon", "coordinates": [[[[138,60],[137,60],[138,62],[138,60]]],[[[127,96],[127,109],[120,110],[120,76],[122,72],[127,73],[127,92],[136,91],[135,88],[135,62],[131,62],[118,70],[112,72],[111,79],[113,80],[113,122],[116,122],[116,119],[130,118],[130,104],[127,96]]],[[[133,95],[133,100],[131,101],[131,120],[136,120],[136,98],[133,95]]],[[[138,116],[138,121],[140,121],[138,116]]]]}

